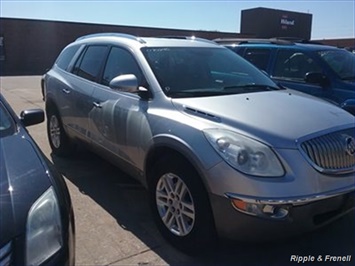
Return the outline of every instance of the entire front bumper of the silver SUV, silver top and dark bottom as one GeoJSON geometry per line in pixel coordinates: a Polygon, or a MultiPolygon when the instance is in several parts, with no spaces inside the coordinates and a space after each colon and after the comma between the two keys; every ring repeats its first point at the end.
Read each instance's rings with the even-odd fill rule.
{"type": "Polygon", "coordinates": [[[298,150],[276,153],[285,168],[283,177],[247,176],[224,162],[204,172],[221,237],[268,241],[299,235],[354,210],[353,173],[325,175],[298,150]]]}

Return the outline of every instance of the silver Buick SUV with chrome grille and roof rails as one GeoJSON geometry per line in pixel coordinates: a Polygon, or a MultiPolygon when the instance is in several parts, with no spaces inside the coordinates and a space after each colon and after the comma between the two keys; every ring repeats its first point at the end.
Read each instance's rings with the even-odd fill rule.
{"type": "Polygon", "coordinates": [[[53,153],[84,143],[138,179],[182,250],[299,234],[354,209],[354,117],[210,41],[84,36],[42,90],[53,153]]]}

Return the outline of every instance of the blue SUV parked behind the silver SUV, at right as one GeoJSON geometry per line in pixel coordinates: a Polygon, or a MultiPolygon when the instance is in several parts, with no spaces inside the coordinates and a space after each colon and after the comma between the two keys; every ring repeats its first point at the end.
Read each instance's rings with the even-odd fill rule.
{"type": "Polygon", "coordinates": [[[216,39],[278,84],[355,114],[355,55],[346,49],[280,39],[216,39]]]}

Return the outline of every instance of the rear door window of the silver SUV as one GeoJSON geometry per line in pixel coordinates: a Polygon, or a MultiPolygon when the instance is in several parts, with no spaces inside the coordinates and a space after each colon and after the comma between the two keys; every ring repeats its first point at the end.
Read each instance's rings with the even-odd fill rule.
{"type": "Polygon", "coordinates": [[[89,46],[74,66],[73,73],[95,81],[105,59],[106,46],[89,46]]]}

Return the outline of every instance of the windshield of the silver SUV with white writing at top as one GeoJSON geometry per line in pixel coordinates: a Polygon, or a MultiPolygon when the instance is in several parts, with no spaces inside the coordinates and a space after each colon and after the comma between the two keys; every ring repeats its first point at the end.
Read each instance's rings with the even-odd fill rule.
{"type": "Polygon", "coordinates": [[[271,79],[224,48],[143,48],[164,93],[204,97],[280,89],[271,79]]]}

